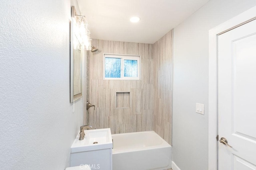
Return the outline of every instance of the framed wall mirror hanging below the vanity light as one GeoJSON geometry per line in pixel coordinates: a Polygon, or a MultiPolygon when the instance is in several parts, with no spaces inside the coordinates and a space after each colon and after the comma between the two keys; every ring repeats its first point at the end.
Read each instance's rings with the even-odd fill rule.
{"type": "Polygon", "coordinates": [[[82,97],[82,46],[70,21],[70,103],[82,97]]]}

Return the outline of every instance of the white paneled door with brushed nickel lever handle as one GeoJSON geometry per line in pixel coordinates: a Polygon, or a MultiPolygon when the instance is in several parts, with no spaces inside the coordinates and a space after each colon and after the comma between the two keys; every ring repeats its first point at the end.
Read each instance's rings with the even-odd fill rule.
{"type": "Polygon", "coordinates": [[[218,36],[218,138],[219,170],[256,170],[256,20],[218,36]]]}

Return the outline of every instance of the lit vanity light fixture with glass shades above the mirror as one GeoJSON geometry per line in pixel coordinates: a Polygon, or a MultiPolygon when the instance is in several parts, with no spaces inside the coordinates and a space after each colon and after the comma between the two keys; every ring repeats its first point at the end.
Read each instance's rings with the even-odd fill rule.
{"type": "Polygon", "coordinates": [[[71,17],[74,21],[74,33],[79,39],[80,43],[84,46],[86,50],[91,50],[91,40],[90,39],[90,31],[88,30],[88,22],[85,20],[85,16],[81,16],[76,14],[76,8],[71,6],[71,17]]]}

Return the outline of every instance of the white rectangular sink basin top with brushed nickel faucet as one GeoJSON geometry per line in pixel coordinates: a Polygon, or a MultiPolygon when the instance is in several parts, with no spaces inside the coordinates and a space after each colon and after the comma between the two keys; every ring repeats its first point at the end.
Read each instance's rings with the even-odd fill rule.
{"type": "Polygon", "coordinates": [[[78,133],[71,146],[71,153],[113,148],[110,128],[85,130],[84,134],[84,139],[79,141],[78,133]]]}

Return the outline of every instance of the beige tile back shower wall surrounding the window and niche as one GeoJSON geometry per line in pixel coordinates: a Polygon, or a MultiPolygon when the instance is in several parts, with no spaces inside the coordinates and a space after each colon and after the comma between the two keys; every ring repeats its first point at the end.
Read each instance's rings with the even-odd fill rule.
{"type": "MultiPolygon", "coordinates": [[[[94,128],[111,128],[111,133],[153,130],[152,44],[92,40],[99,51],[89,52],[88,122],[94,128]],[[103,80],[104,53],[140,55],[141,80],[103,80]],[[116,108],[116,92],[130,92],[130,108],[116,108]]],[[[86,118],[86,116],[84,116],[86,118]]]]}

